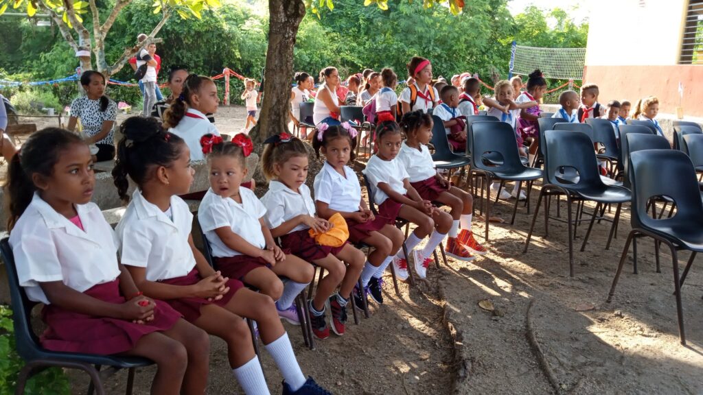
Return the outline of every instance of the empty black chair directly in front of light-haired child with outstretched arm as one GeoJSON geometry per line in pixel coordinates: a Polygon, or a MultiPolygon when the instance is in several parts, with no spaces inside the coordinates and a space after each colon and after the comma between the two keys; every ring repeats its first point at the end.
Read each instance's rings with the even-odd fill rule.
{"type": "MultiPolygon", "coordinates": [[[[486,240],[489,239],[489,218],[491,217],[491,180],[517,182],[517,195],[519,196],[523,181],[534,181],[543,175],[541,169],[526,167],[522,164],[514,137],[515,132],[505,122],[475,122],[469,131],[471,171],[486,178],[486,183],[484,183],[486,188],[486,199],[484,199],[486,240]],[[486,153],[493,153],[501,157],[501,164],[494,165],[485,161],[483,157],[486,153]]],[[[531,188],[528,188],[527,202],[529,202],[530,191],[531,188]]],[[[498,190],[498,194],[500,194],[500,190],[498,190]]],[[[515,223],[515,213],[519,202],[520,200],[516,198],[510,224],[515,223]]]]}

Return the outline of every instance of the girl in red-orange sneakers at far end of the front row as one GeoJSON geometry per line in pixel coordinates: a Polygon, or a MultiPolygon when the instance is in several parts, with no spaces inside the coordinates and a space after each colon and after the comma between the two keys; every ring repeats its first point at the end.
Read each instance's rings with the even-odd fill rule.
{"type": "Polygon", "coordinates": [[[473,197],[451,186],[449,180],[437,172],[432,162],[432,155],[427,149],[427,143],[432,138],[432,117],[422,111],[408,112],[401,120],[401,128],[406,140],[401,145],[398,160],[408,172],[410,185],[423,199],[451,207],[449,215],[452,217],[452,225],[446,241],[446,254],[462,261],[473,260],[472,253],[486,254],[486,249],[471,232],[473,197]]]}

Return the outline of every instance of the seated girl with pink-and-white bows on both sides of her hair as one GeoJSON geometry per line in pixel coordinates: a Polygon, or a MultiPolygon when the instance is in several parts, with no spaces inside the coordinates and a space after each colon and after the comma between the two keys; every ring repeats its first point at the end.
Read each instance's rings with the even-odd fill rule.
{"type": "MultiPolygon", "coordinates": [[[[386,70],[386,69],[384,69],[386,70]]],[[[318,126],[313,138],[318,156],[325,156],[322,170],[315,176],[315,207],[318,214],[329,219],[335,213],[347,221],[349,240],[373,247],[361,271],[361,285],[376,303],[383,303],[384,271],[403,245],[403,232],[394,226],[395,218],[374,216],[361,198],[361,185],[354,170],[347,166],[354,160],[356,130],[343,122],[340,126],[318,126]]],[[[363,294],[354,288],[354,302],[363,309],[363,294]]]]}

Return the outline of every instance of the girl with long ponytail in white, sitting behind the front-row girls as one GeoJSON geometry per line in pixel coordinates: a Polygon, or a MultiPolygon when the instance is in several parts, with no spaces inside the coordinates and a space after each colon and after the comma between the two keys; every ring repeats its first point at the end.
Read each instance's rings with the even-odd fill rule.
{"type": "Polygon", "coordinates": [[[183,82],[183,91],[164,113],[164,127],[183,138],[191,150],[191,160],[204,160],[200,138],[206,134],[219,136],[206,114],[214,114],[219,107],[217,86],[208,77],[191,74],[183,82]]]}

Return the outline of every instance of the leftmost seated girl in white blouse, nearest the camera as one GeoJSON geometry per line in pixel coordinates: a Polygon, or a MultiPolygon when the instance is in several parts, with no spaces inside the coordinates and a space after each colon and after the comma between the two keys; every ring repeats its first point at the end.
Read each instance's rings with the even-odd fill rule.
{"type": "Polygon", "coordinates": [[[10,246],[27,297],[46,305],[42,347],[143,356],[157,365],[152,393],[203,394],[207,335],[134,285],[94,187],[88,146],[63,129],[32,134],[10,163],[10,246]]]}

